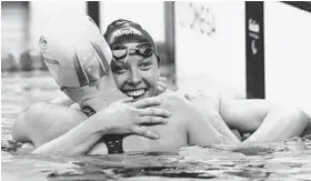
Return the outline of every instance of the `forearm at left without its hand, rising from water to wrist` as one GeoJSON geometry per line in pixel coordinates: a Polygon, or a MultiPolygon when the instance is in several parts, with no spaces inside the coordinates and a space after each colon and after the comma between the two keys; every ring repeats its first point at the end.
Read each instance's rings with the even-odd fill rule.
{"type": "Polygon", "coordinates": [[[99,130],[96,125],[94,119],[90,117],[61,137],[39,147],[32,153],[61,155],[86,154],[104,134],[104,131],[102,131],[104,129],[99,130]]]}

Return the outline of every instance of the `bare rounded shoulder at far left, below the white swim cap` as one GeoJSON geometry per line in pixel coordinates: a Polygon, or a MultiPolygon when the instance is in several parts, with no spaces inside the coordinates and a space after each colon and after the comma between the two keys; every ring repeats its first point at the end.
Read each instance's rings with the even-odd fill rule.
{"type": "MultiPolygon", "coordinates": [[[[78,107],[79,105],[67,95],[52,99],[48,102],[33,103],[14,121],[12,138],[17,142],[26,143],[28,148],[31,145],[41,145],[50,141],[47,132],[52,133],[51,137],[54,138],[57,137],[56,134],[60,135],[59,132],[62,134],[64,131],[77,125],[76,121],[67,119],[66,115],[67,111],[71,114],[70,108],[78,109],[78,107]],[[58,129],[53,128],[53,125],[58,125],[58,129]]],[[[80,115],[79,113],[78,117],[80,115]]]]}

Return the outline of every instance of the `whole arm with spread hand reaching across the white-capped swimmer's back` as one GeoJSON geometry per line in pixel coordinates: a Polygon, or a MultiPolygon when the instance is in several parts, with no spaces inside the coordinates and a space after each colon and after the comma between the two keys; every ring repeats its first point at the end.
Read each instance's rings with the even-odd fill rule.
{"type": "MultiPolygon", "coordinates": [[[[158,135],[142,124],[164,124],[170,112],[164,109],[149,108],[161,104],[158,98],[131,102],[122,99],[97,112],[61,137],[41,145],[33,153],[84,154],[90,151],[104,134],[140,134],[149,139],[158,135]]],[[[92,150],[94,151],[94,150],[92,150]]],[[[106,150],[107,151],[107,150],[106,150]]],[[[107,153],[107,152],[106,152],[107,153]]]]}

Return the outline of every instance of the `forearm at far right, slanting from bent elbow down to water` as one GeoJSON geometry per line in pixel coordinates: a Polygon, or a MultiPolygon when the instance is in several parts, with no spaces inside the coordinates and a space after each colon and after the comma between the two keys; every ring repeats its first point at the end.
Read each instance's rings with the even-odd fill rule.
{"type": "Polygon", "coordinates": [[[299,137],[305,130],[309,121],[310,117],[303,111],[272,109],[268,112],[259,129],[243,141],[243,144],[299,137]]]}

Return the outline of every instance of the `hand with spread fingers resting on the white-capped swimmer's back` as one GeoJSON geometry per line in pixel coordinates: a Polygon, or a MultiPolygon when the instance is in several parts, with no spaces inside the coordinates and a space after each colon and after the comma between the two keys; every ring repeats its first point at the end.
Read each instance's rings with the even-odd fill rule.
{"type": "Polygon", "coordinates": [[[171,113],[161,108],[150,108],[160,105],[160,98],[148,98],[132,102],[132,98],[126,98],[111,103],[104,110],[93,114],[97,121],[94,127],[104,134],[139,134],[149,139],[159,139],[149,127],[168,123],[171,113]]]}

